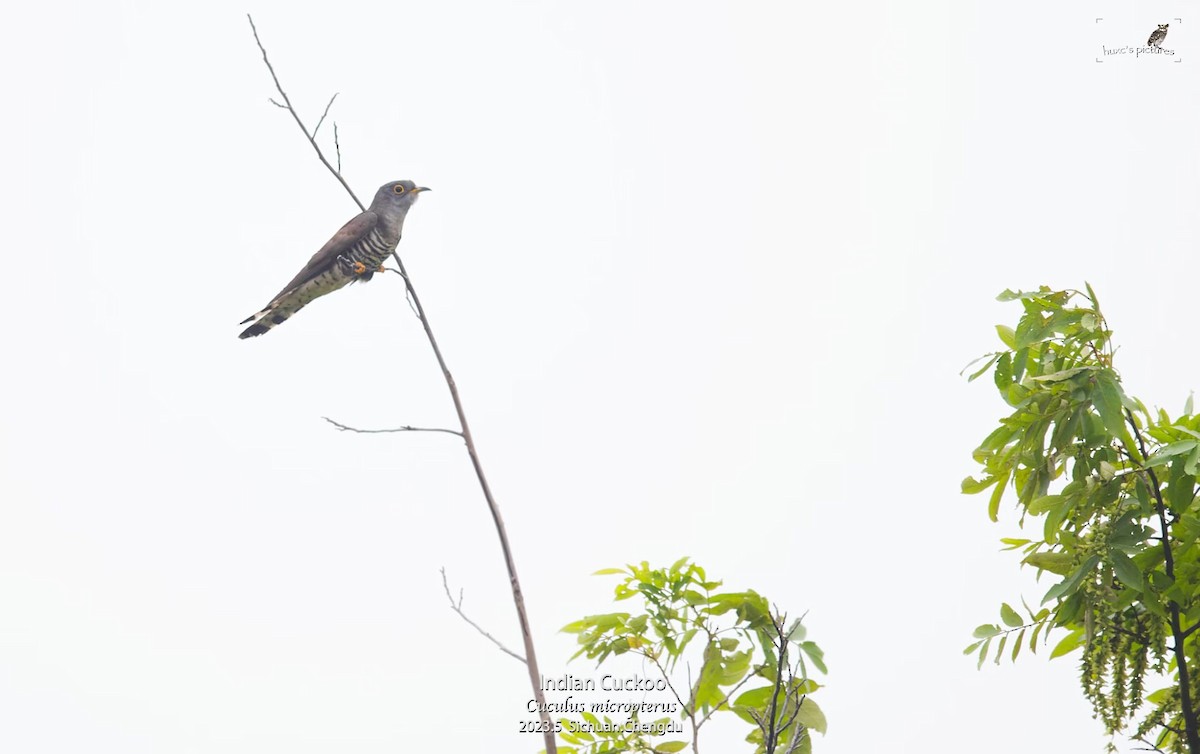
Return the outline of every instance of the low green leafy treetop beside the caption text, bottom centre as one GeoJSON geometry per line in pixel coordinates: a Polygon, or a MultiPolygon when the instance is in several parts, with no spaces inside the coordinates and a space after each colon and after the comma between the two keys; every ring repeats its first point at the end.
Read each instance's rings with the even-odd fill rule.
{"type": "Polygon", "coordinates": [[[752,590],[718,591],[721,582],[709,580],[686,557],[668,568],[654,569],[643,561],[596,573],[624,576],[616,586],[616,602],[636,602],[641,610],[593,615],[563,627],[578,636],[575,657],[598,665],[628,653],[644,658],[670,689],[691,741],[664,741],[640,730],[594,732],[620,728],[622,722],[583,713],[580,719],[559,720],[563,754],[695,749],[700,729],[719,712],[751,724],[746,741],[756,754],[811,753],[809,731],[824,734],[826,718],[810,699],[820,684],[809,678],[808,669],[826,672],[826,665],[824,653],[806,639],[802,620],[788,623],[752,590]]]}

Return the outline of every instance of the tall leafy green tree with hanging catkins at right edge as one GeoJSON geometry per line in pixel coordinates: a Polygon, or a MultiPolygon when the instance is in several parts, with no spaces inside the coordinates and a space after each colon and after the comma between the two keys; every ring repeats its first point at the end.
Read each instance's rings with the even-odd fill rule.
{"type": "Polygon", "coordinates": [[[1126,394],[1112,333],[1090,286],[998,298],[1019,301],[1024,313],[1015,329],[996,328],[1004,351],[989,354],[970,379],[990,369],[1012,413],[976,449],[982,478],[965,479],[962,491],[991,489],[995,521],[1012,489],[1019,526],[1036,533],[1003,539],[1006,549],[1020,550],[1022,564],[1039,575],[1060,579],[1039,610],[1026,608],[1027,617],[1003,605],[1003,627],[977,628],[966,653],[977,652],[982,666],[995,648],[998,663],[1012,636],[1015,659],[1027,633],[1034,651],[1039,636],[1044,645],[1055,630],[1061,639],[1050,657],[1079,652],[1084,693],[1109,734],[1133,726],[1138,740],[1157,734],[1164,752],[1193,750],[1186,747],[1200,740],[1193,633],[1200,624],[1200,417],[1190,397],[1172,419],[1126,394]],[[1146,694],[1151,672],[1174,687],[1146,694]]]}

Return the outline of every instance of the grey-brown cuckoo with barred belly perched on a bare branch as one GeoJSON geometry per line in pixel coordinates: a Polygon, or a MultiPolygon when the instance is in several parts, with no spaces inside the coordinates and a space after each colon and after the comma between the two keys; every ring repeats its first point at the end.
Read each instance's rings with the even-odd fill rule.
{"type": "Polygon", "coordinates": [[[238,337],[268,333],[313,299],[384,271],[383,261],[396,250],[404,216],[422,191],[428,188],[410,180],[380,186],[366,211],[342,226],[266,306],[241,321],[253,324],[238,337]]]}

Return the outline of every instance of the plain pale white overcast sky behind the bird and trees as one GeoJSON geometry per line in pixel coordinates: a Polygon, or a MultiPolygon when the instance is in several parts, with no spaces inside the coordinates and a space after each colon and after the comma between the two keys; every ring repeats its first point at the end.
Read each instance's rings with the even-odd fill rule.
{"type": "Polygon", "coordinates": [[[960,654],[1046,584],[958,491],[1006,287],[1091,281],[1129,391],[1200,387],[1200,18],[1098,7],[11,8],[0,750],[541,746],[442,594],[518,644],[458,443],[320,420],[452,424],[398,281],[236,337],[356,211],[251,11],[310,124],[341,92],[360,196],[434,188],[401,251],[546,675],[592,672],[557,633],[613,609],[588,574],[690,555],[809,611],[820,754],[1100,752],[1073,659],[960,654]],[[1180,62],[1094,61],[1175,17],[1180,62]]]}

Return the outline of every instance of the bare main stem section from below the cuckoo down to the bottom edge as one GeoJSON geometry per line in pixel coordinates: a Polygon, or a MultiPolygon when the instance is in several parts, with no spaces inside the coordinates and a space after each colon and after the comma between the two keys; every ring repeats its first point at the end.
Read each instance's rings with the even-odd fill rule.
{"type": "Polygon", "coordinates": [[[496,504],[496,498],[492,497],[492,489],[487,484],[484,467],[479,462],[479,453],[475,450],[475,441],[470,435],[470,425],[467,424],[467,414],[463,412],[462,400],[458,397],[458,385],[455,383],[454,375],[450,373],[450,367],[446,366],[445,359],[442,358],[442,349],[438,347],[437,339],[433,337],[433,330],[430,328],[428,317],[425,316],[425,307],[421,306],[421,299],[416,295],[416,289],[413,288],[413,282],[408,277],[408,270],[404,269],[404,263],[400,259],[400,255],[392,251],[391,258],[396,261],[396,265],[400,268],[401,277],[404,279],[404,287],[413,300],[413,307],[416,309],[416,316],[421,321],[421,327],[425,328],[425,335],[433,348],[433,355],[437,357],[438,366],[442,367],[442,376],[445,377],[446,388],[450,389],[454,409],[458,414],[458,426],[462,429],[462,438],[467,443],[467,455],[470,456],[470,465],[475,468],[475,477],[479,479],[479,486],[484,491],[484,498],[487,501],[487,509],[491,511],[492,521],[496,523],[496,533],[500,538],[500,550],[504,552],[504,566],[509,570],[509,585],[512,587],[512,604],[516,605],[517,621],[521,623],[526,668],[529,670],[529,684],[533,687],[534,700],[538,704],[538,717],[542,723],[542,740],[546,743],[546,754],[557,754],[558,746],[554,742],[553,723],[550,719],[550,713],[546,711],[546,696],[541,690],[541,674],[538,671],[538,654],[533,648],[529,616],[526,614],[524,597],[521,593],[521,581],[517,579],[517,567],[512,559],[512,549],[509,546],[509,534],[504,528],[504,519],[500,516],[500,509],[496,504]]]}

